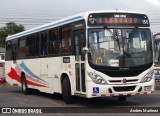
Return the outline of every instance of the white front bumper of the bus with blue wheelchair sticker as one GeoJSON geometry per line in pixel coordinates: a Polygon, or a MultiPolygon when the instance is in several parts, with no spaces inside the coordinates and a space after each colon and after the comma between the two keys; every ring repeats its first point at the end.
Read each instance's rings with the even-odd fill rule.
{"type": "Polygon", "coordinates": [[[140,94],[152,94],[154,92],[154,79],[146,83],[123,85],[98,85],[88,84],[87,98],[105,96],[133,96],[140,94]]]}

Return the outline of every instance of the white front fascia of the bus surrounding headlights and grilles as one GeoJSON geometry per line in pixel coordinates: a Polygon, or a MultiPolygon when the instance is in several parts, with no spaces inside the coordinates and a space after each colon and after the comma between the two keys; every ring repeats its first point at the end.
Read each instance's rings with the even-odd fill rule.
{"type": "Polygon", "coordinates": [[[87,85],[87,97],[88,98],[91,98],[91,97],[104,97],[104,96],[131,96],[131,95],[139,95],[139,94],[150,94],[150,93],[153,93],[154,91],[154,85],[155,85],[155,79],[154,79],[154,76],[152,78],[151,81],[149,82],[146,82],[146,83],[141,83],[140,81],[142,80],[142,78],[148,73],[150,72],[151,70],[153,70],[153,66],[142,72],[140,75],[138,76],[133,76],[133,77],[125,77],[125,79],[127,80],[134,80],[134,79],[137,79],[138,81],[136,82],[127,82],[127,83],[123,83],[123,79],[124,77],[109,77],[99,71],[96,71],[94,69],[92,69],[90,66],[87,65],[87,71],[88,72],[96,72],[96,74],[100,75],[101,77],[103,77],[105,79],[105,81],[107,82],[107,84],[105,85],[99,85],[99,84],[95,84],[92,79],[87,76],[87,79],[86,79],[86,85],[87,85]],[[111,83],[110,81],[113,81],[113,80],[120,80],[121,82],[115,82],[115,83],[111,83]],[[128,86],[135,86],[135,89],[134,91],[122,91],[122,92],[117,92],[113,89],[113,87],[128,87],[128,86]],[[145,86],[151,86],[151,91],[144,91],[144,87],[145,86]],[[94,93],[93,91],[93,88],[94,87],[97,87],[99,88],[99,92],[98,93],[94,93]],[[142,91],[138,92],[138,90],[140,89],[140,87],[142,87],[142,91]],[[111,88],[112,90],[112,93],[110,93],[108,91],[108,89],[111,88]]]}

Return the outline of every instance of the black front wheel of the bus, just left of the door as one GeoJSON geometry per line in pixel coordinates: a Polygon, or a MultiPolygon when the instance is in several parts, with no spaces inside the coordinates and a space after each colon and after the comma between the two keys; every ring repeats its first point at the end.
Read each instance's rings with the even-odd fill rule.
{"type": "Polygon", "coordinates": [[[65,77],[62,81],[62,96],[66,104],[74,102],[73,96],[71,95],[71,85],[68,77],[65,77]]]}

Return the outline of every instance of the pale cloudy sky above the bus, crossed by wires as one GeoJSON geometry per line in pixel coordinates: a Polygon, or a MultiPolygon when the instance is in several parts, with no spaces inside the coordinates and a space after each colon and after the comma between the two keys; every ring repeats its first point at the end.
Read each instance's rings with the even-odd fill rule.
{"type": "Polygon", "coordinates": [[[0,0],[0,27],[13,21],[27,29],[90,10],[126,10],[149,16],[160,32],[160,0],[0,0]]]}

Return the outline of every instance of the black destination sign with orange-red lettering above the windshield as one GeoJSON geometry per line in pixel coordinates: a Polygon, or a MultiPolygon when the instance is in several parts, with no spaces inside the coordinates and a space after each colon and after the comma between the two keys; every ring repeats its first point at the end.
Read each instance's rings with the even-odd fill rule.
{"type": "Polygon", "coordinates": [[[148,17],[133,13],[93,13],[88,17],[88,26],[140,26],[149,27],[148,17]]]}

